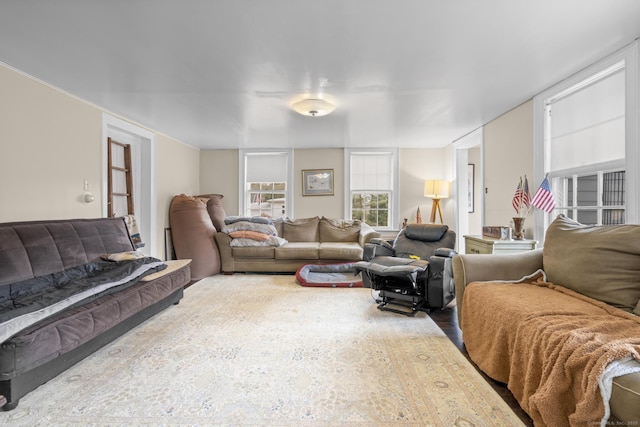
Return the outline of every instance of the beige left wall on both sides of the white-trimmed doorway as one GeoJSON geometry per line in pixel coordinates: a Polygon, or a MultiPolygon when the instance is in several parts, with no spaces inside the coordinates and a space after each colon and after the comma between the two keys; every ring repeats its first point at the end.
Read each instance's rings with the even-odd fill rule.
{"type": "MultiPolygon", "coordinates": [[[[102,216],[102,115],[95,105],[0,66],[0,222],[102,216]],[[95,196],[82,203],[84,180],[95,196]]],[[[171,197],[199,191],[199,150],[156,134],[157,236],[171,197]]]]}

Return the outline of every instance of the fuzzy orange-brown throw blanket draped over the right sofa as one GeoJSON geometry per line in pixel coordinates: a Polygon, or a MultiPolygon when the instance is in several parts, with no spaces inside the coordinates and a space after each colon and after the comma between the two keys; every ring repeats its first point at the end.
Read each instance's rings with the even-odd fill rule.
{"type": "Polygon", "coordinates": [[[614,376],[640,371],[640,318],[545,282],[475,282],[462,301],[471,359],[536,426],[604,425],[614,376]],[[602,385],[600,385],[602,383],[602,385]]]}

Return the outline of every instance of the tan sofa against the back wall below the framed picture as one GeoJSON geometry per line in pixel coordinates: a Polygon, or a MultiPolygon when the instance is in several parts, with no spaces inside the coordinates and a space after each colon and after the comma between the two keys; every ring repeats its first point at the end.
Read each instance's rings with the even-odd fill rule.
{"type": "Polygon", "coordinates": [[[273,226],[286,243],[232,246],[233,238],[228,233],[216,233],[222,271],[293,273],[305,264],[361,261],[364,245],[380,237],[366,223],[325,217],[277,219],[273,226]]]}

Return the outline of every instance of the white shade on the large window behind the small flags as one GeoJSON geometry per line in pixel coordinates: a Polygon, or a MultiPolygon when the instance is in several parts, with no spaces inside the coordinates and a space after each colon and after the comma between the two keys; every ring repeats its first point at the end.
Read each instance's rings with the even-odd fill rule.
{"type": "Polygon", "coordinates": [[[550,103],[550,171],[625,158],[625,73],[550,103]]]}

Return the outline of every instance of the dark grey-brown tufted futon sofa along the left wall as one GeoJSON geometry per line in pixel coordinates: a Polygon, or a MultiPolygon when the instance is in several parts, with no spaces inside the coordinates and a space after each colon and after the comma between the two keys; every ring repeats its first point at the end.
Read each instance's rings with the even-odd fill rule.
{"type": "Polygon", "coordinates": [[[139,258],[122,218],[0,224],[2,409],[177,304],[189,276],[188,261],[139,258]]]}

